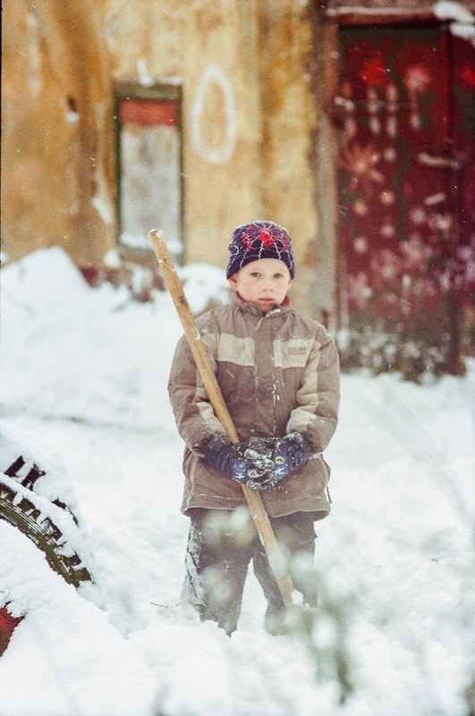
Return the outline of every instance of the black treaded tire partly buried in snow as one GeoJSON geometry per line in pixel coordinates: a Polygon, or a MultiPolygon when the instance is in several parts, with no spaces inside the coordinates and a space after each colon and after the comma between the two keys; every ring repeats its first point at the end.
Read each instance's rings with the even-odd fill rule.
{"type": "Polygon", "coordinates": [[[52,569],[74,586],[91,581],[88,569],[54,519],[38,505],[37,496],[0,479],[0,518],[18,527],[42,552],[52,569]],[[28,494],[30,493],[30,494],[28,494]]]}

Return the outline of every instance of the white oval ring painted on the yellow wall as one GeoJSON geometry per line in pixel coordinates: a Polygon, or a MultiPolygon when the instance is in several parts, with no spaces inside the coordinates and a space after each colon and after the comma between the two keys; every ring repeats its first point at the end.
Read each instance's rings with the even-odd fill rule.
{"type": "Polygon", "coordinates": [[[223,70],[216,64],[210,64],[201,75],[195,101],[191,107],[191,139],[193,147],[210,164],[224,164],[233,156],[236,132],[236,106],[234,104],[233,90],[223,70]],[[221,89],[225,106],[225,136],[220,147],[210,147],[201,134],[201,117],[208,88],[212,82],[215,82],[221,89]]]}

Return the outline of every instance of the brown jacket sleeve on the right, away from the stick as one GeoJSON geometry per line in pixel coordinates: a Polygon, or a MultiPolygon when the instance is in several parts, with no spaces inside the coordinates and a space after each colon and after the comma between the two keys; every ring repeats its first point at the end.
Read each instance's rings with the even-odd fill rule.
{"type": "Polygon", "coordinates": [[[296,402],[287,433],[298,431],[312,451],[324,451],[338,420],[340,365],[335,341],[323,328],[310,350],[296,402]]]}

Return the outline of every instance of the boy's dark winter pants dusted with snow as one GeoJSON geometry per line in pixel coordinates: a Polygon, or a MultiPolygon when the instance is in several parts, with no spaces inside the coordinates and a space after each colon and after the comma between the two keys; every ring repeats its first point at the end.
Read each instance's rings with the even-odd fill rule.
{"type": "MultiPolygon", "coordinates": [[[[276,632],[278,628],[274,625],[284,614],[284,601],[249,512],[193,509],[189,516],[184,599],[199,612],[201,620],[216,621],[231,634],[241,614],[244,583],[252,561],[254,574],[267,599],[265,627],[276,632]]],[[[293,558],[302,552],[307,558],[313,558],[316,535],[310,512],[270,518],[270,522],[291,565],[293,558]]],[[[296,589],[306,602],[315,606],[314,590],[306,588],[306,581],[300,578],[298,570],[292,572],[296,589]]]]}

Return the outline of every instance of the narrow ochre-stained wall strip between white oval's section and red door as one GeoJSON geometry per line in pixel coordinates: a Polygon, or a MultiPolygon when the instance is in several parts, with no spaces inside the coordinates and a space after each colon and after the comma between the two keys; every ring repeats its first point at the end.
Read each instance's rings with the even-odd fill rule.
{"type": "Polygon", "coordinates": [[[293,236],[298,270],[293,302],[310,312],[318,234],[314,21],[310,3],[259,3],[263,206],[267,217],[293,236]]]}

